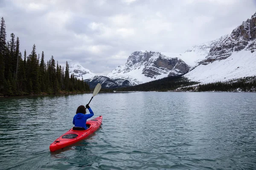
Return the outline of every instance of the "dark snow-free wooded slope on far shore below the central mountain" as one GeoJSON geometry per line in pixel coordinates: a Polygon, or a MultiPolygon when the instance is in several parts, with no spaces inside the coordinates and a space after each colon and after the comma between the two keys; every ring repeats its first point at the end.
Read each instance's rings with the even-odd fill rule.
{"type": "Polygon", "coordinates": [[[116,91],[173,91],[177,88],[194,84],[197,84],[197,82],[191,82],[180,75],[177,77],[165,77],[126,88],[117,88],[116,91]]]}

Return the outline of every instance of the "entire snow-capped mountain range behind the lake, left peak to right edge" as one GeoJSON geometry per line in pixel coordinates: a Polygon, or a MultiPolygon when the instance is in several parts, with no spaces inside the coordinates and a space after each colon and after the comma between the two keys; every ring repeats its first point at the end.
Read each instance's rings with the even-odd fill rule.
{"type": "Polygon", "coordinates": [[[81,65],[70,73],[105,88],[137,85],[168,76],[184,77],[201,83],[228,81],[256,75],[256,13],[231,34],[195,45],[184,53],[135,51],[124,65],[107,76],[97,76],[81,65]]]}

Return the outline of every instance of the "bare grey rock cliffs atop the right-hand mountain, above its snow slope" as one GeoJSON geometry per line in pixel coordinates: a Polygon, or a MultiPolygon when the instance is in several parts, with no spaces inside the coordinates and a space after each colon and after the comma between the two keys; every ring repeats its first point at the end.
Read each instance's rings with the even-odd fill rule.
{"type": "Polygon", "coordinates": [[[206,59],[199,62],[207,65],[215,60],[226,59],[235,51],[243,49],[255,51],[256,49],[256,13],[247,19],[240,26],[235,28],[231,34],[225,35],[213,41],[212,47],[206,59]]]}

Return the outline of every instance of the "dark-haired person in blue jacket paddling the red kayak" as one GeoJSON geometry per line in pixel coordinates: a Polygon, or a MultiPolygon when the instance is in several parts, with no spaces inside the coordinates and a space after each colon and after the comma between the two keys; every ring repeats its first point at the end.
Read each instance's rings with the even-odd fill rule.
{"type": "Polygon", "coordinates": [[[84,105],[81,105],[76,109],[76,115],[73,118],[73,124],[75,125],[75,127],[84,127],[85,129],[88,129],[86,127],[86,120],[91,118],[94,114],[88,104],[85,107],[84,105]],[[85,114],[85,107],[89,110],[90,114],[85,114]]]}

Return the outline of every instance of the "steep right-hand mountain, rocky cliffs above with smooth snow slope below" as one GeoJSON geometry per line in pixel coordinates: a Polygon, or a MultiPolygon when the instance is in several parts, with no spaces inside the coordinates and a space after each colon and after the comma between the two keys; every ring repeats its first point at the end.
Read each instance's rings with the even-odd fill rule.
{"type": "Polygon", "coordinates": [[[184,76],[197,82],[228,81],[256,75],[256,13],[210,45],[206,58],[184,76]]]}

